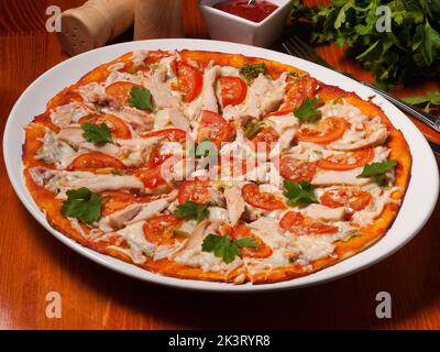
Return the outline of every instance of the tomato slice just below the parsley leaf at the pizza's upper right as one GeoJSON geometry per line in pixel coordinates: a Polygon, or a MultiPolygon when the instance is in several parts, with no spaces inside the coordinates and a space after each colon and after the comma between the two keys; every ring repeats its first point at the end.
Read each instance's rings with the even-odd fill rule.
{"type": "Polygon", "coordinates": [[[297,133],[297,139],[301,142],[328,144],[339,140],[345,133],[348,127],[349,123],[344,119],[330,117],[321,120],[317,129],[302,127],[297,133]]]}

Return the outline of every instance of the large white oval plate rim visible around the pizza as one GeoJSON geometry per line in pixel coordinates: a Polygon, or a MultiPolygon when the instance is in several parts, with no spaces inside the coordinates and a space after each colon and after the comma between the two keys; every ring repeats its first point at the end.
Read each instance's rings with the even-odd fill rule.
{"type": "Polygon", "coordinates": [[[56,95],[63,88],[76,82],[87,72],[96,68],[100,64],[125,54],[127,52],[140,48],[188,48],[239,53],[246,56],[264,57],[279,63],[293,65],[309,72],[310,75],[317,77],[319,80],[326,84],[337,85],[348,91],[355,91],[364,99],[374,96],[374,92],[370,88],[364,87],[361,84],[328,68],[277,52],[228,42],[197,40],[155,40],[130,42],[84,53],[61,63],[38,77],[23,92],[13,107],[4,129],[4,161],[8,168],[9,178],[15,191],[32,216],[59,241],[67,244],[69,248],[82,254],[84,256],[125,275],[174,287],[211,292],[275,290],[302,287],[327,282],[372,265],[394,253],[396,250],[407,243],[429,219],[435,208],[439,191],[439,174],[433,154],[422,134],[410,122],[410,120],[408,120],[403,112],[400,112],[385,99],[376,97],[374,102],[383,108],[394,125],[403,131],[406,140],[409,143],[413,154],[411,179],[400,211],[393,227],[388,230],[388,233],[371,248],[343,262],[311,275],[287,282],[256,286],[252,286],[250,284],[234,286],[232,284],[208,283],[161,276],[117,258],[94,252],[77,244],[63,233],[54,230],[47,223],[46,218],[36,207],[24,185],[21,162],[22,143],[24,141],[23,128],[33,119],[34,116],[40,114],[45,110],[46,102],[54,95],[56,95]]]}

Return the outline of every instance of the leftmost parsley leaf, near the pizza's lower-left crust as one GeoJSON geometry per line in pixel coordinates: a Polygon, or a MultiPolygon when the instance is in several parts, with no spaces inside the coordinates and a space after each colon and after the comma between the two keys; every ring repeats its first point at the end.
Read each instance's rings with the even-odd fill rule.
{"type": "Polygon", "coordinates": [[[67,190],[67,200],[63,204],[62,213],[76,218],[85,223],[92,223],[101,218],[102,196],[81,187],[67,190]]]}

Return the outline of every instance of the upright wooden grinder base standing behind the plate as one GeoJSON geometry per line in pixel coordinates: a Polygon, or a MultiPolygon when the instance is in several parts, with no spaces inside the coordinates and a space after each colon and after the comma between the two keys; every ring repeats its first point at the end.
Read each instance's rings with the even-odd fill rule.
{"type": "Polygon", "coordinates": [[[136,0],[134,40],[184,37],[183,0],[136,0]]]}

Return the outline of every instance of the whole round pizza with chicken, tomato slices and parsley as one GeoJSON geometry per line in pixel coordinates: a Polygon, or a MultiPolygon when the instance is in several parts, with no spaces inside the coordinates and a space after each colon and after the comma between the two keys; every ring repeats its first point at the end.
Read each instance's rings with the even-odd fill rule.
{"type": "Polygon", "coordinates": [[[134,51],[25,127],[26,187],[50,224],[158,275],[267,284],[386,234],[410,177],[380,107],[295,67],[134,51]]]}

